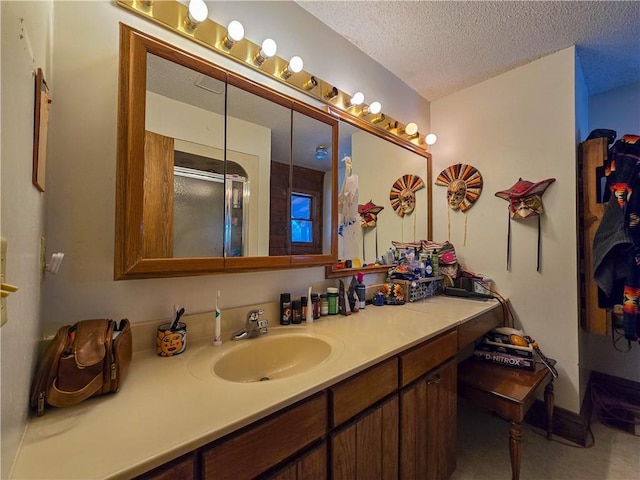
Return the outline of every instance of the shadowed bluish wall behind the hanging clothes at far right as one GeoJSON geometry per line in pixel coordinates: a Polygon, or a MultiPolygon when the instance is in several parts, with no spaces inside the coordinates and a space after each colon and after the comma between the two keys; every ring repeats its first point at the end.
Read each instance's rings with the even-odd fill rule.
{"type": "MultiPolygon", "coordinates": [[[[589,131],[596,128],[615,130],[618,137],[640,135],[640,82],[589,97],[589,131]]],[[[581,333],[580,361],[585,369],[640,382],[640,345],[631,343],[627,350],[624,338],[614,346],[610,335],[581,333]]]]}

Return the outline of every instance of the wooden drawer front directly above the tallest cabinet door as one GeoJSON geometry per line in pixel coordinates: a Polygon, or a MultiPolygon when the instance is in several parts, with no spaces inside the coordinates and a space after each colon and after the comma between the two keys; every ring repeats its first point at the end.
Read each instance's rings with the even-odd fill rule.
{"type": "Polygon", "coordinates": [[[437,367],[458,351],[458,336],[455,330],[428,340],[422,345],[400,354],[401,386],[413,382],[429,370],[437,367]]]}

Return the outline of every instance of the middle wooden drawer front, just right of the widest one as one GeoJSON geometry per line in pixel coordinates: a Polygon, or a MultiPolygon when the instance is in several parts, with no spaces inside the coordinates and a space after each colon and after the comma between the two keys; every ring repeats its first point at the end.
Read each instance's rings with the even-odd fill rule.
{"type": "Polygon", "coordinates": [[[331,387],[331,425],[340,425],[397,389],[395,357],[331,387]]]}

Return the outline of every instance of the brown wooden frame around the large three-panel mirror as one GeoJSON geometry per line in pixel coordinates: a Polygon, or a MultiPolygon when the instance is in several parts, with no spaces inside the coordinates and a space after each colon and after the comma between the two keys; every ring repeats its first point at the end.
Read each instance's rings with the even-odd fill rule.
{"type": "MultiPolygon", "coordinates": [[[[118,142],[116,174],[116,227],[114,279],[160,278],[209,275],[223,272],[274,270],[292,267],[331,265],[337,261],[337,205],[338,205],[338,119],[320,109],[298,102],[275,90],[240,77],[211,62],[180,50],[127,25],[120,24],[120,72],[118,84],[118,142]],[[331,176],[331,252],[319,255],[259,256],[259,257],[200,257],[153,258],[145,255],[153,251],[145,245],[143,220],[145,202],[153,196],[169,193],[145,192],[145,175],[155,175],[162,181],[163,172],[153,172],[145,162],[145,95],[147,53],[179,63],[204,75],[240,86],[329,124],[332,129],[331,176]],[[178,61],[179,60],[179,61],[178,61]],[[142,161],[141,161],[142,160],[142,161]]],[[[157,169],[161,170],[161,169],[157,169]]],[[[159,189],[160,190],[160,189],[159,189]]],[[[165,188],[166,190],[166,188],[165,188]]],[[[162,241],[162,239],[160,239],[162,241]]]]}

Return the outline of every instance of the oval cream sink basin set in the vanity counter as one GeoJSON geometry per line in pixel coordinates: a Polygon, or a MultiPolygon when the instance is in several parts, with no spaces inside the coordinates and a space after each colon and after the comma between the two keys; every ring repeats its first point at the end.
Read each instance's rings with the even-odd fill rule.
{"type": "Polygon", "coordinates": [[[264,337],[233,342],[220,354],[204,348],[191,359],[189,370],[199,378],[213,375],[230,382],[277,380],[306,372],[341,351],[335,341],[317,335],[268,333],[264,337]],[[209,360],[202,358],[207,353],[213,353],[209,360]],[[203,371],[203,361],[208,364],[207,373],[203,371]]]}

